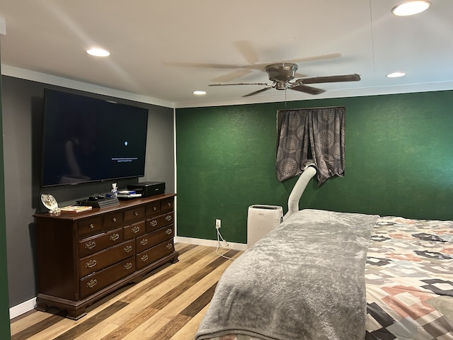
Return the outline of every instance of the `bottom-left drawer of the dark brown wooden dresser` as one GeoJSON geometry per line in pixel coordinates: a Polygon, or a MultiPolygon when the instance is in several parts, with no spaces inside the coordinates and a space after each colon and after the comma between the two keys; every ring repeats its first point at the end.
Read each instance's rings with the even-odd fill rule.
{"type": "Polygon", "coordinates": [[[113,266],[103,269],[98,273],[87,276],[80,280],[80,295],[81,298],[87,297],[108,285],[115,283],[121,278],[125,278],[129,274],[135,271],[134,257],[125,259],[120,263],[116,263],[113,266]]]}

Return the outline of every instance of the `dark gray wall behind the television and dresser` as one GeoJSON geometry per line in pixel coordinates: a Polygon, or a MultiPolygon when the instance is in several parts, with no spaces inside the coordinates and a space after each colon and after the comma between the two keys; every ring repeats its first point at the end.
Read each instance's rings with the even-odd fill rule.
{"type": "MultiPolygon", "coordinates": [[[[51,193],[62,206],[74,204],[75,200],[93,193],[108,192],[112,181],[46,188],[41,191],[44,88],[62,88],[14,77],[3,76],[1,80],[9,305],[13,307],[37,294],[33,214],[42,211],[40,193],[51,193]]],[[[84,94],[70,89],[64,91],[84,94]]],[[[115,98],[115,101],[132,103],[121,98],[115,98]]],[[[166,192],[174,192],[173,109],[147,103],[133,104],[149,109],[146,176],[139,181],[165,181],[166,192]]],[[[118,186],[125,188],[131,182],[137,180],[120,180],[118,186]]]]}

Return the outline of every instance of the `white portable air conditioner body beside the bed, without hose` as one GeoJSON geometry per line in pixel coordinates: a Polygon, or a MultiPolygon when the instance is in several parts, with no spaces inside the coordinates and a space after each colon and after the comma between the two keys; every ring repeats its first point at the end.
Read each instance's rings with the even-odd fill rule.
{"type": "Polygon", "coordinates": [[[247,215],[247,248],[283,221],[283,208],[277,205],[251,205],[247,215]]]}

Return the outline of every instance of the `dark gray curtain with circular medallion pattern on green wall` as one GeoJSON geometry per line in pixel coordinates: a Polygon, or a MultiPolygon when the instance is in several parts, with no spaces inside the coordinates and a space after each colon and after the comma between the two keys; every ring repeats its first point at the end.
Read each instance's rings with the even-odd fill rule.
{"type": "Polygon", "coordinates": [[[280,182],[316,164],[318,186],[345,174],[345,108],[277,111],[277,162],[280,182]]]}

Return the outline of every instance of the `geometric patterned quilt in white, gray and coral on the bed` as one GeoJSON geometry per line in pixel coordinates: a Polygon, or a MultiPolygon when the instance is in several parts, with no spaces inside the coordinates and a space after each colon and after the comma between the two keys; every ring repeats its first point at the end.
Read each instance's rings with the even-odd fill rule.
{"type": "Polygon", "coordinates": [[[453,340],[453,221],[379,217],[365,279],[365,340],[453,340]]]}

